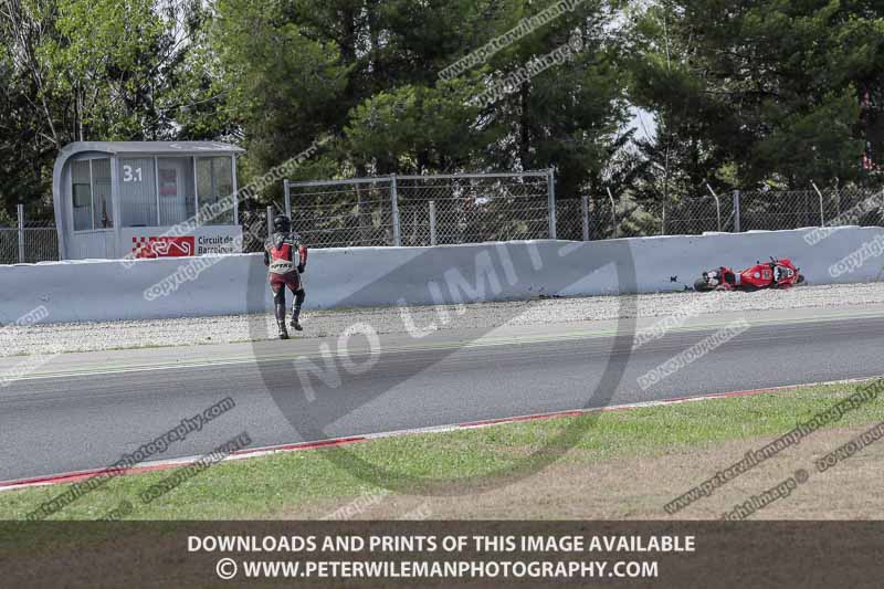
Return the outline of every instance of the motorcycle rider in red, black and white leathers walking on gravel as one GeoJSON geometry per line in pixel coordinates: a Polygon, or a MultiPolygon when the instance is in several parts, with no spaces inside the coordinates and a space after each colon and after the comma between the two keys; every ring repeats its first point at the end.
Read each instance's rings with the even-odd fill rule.
{"type": "Polygon", "coordinates": [[[264,265],[267,266],[267,282],[273,292],[276,325],[280,339],[288,339],[285,328],[285,288],[292,291],[295,302],[292,305],[292,327],[301,332],[301,305],[304,304],[304,274],[307,266],[307,248],[297,233],[292,231],[292,222],[283,214],[273,219],[273,235],[264,242],[264,265]]]}

